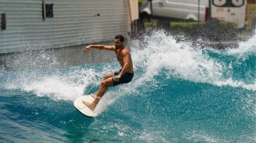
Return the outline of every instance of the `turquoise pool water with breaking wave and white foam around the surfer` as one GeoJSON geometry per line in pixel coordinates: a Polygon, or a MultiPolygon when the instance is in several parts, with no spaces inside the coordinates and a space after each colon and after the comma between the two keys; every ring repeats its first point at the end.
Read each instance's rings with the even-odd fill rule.
{"type": "Polygon", "coordinates": [[[117,62],[54,69],[43,53],[45,68],[1,70],[1,142],[256,142],[256,35],[213,50],[158,31],[128,46],[134,79],[108,89],[96,118],[73,101],[117,62]]]}

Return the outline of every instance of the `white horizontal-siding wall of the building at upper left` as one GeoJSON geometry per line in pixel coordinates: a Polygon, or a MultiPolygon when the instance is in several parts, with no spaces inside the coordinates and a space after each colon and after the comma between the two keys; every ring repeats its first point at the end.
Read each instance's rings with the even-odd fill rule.
{"type": "Polygon", "coordinates": [[[126,0],[46,0],[53,4],[54,15],[46,21],[42,4],[43,0],[0,0],[0,14],[6,13],[0,53],[102,42],[130,30],[126,0]]]}

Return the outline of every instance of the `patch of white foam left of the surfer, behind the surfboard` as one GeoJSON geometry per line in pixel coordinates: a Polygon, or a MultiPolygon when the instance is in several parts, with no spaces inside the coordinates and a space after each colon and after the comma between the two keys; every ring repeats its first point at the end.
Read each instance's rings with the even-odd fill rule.
{"type": "Polygon", "coordinates": [[[9,80],[6,88],[21,89],[26,92],[36,93],[37,96],[49,96],[56,100],[71,100],[73,101],[78,96],[82,96],[87,86],[97,82],[95,79],[95,71],[92,69],[81,69],[72,71],[69,74],[53,74],[34,75],[29,77],[26,74],[21,74],[18,79],[9,80]]]}

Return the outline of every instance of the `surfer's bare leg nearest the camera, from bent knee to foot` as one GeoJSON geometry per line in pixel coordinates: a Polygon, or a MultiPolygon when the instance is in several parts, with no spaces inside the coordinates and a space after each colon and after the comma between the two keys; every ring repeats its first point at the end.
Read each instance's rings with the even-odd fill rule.
{"type": "Polygon", "coordinates": [[[99,91],[97,91],[95,100],[92,103],[88,103],[86,101],[82,101],[82,103],[87,105],[87,107],[90,108],[91,110],[95,110],[97,103],[99,103],[99,101],[100,101],[100,98],[102,98],[102,96],[104,96],[105,92],[107,91],[107,88],[110,86],[113,86],[112,78],[105,79],[100,84],[100,89],[99,89],[99,91]]]}

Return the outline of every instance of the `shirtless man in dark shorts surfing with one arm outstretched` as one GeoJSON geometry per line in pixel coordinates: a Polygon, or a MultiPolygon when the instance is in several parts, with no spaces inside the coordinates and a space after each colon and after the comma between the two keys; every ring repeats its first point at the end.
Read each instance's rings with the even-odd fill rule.
{"type": "Polygon", "coordinates": [[[124,36],[116,35],[114,37],[114,45],[88,45],[85,47],[84,51],[88,52],[90,48],[95,48],[99,50],[110,50],[114,51],[117,55],[117,59],[122,67],[119,71],[112,72],[104,76],[103,81],[100,84],[100,89],[97,91],[96,95],[92,95],[95,100],[92,103],[82,101],[88,108],[95,110],[97,103],[99,103],[100,98],[104,96],[107,88],[110,86],[117,86],[118,84],[126,84],[132,81],[134,76],[132,57],[129,50],[124,45],[124,36]]]}

